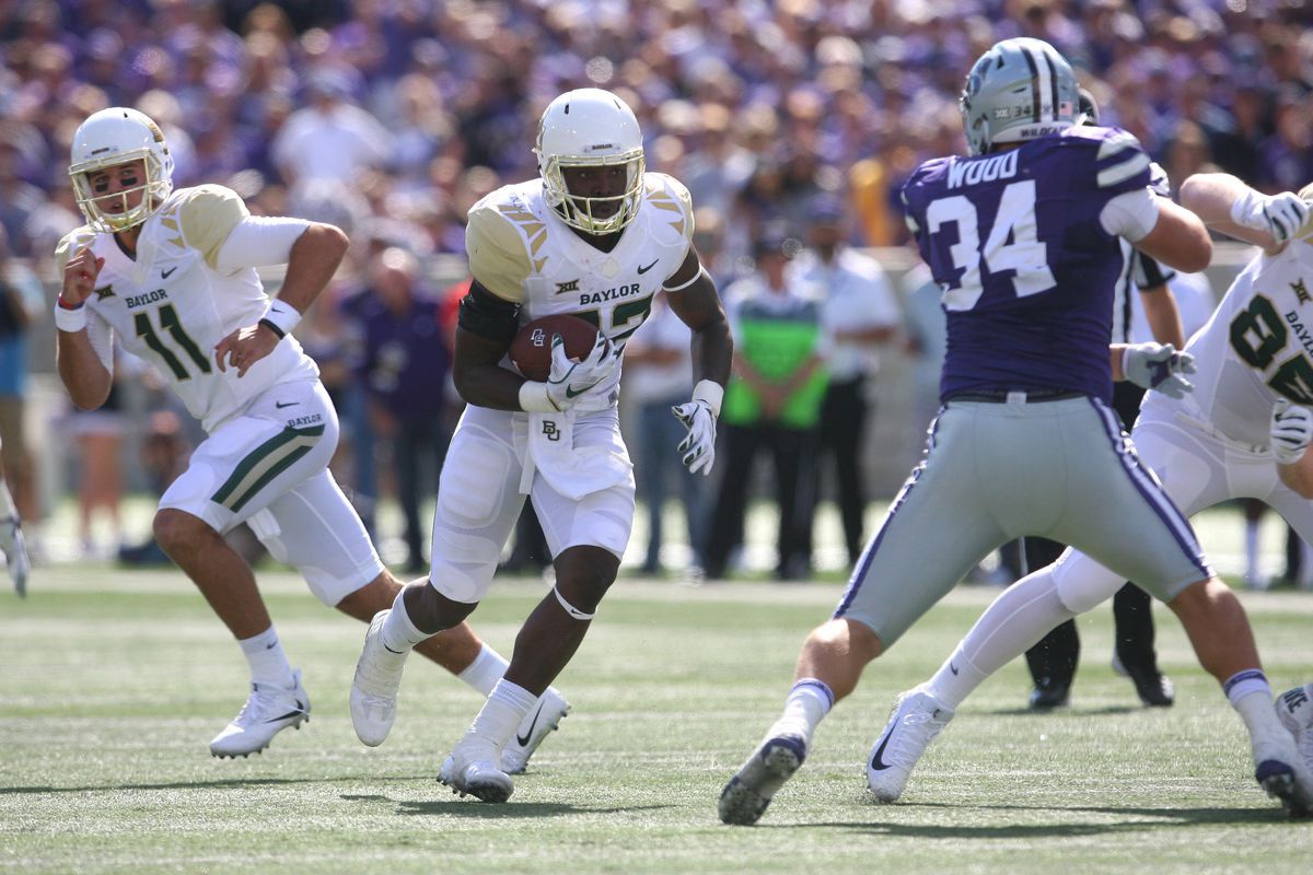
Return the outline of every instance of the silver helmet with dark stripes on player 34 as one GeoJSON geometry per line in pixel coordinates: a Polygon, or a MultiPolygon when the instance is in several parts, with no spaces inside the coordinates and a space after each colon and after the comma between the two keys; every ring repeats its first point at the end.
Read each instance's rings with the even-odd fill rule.
{"type": "Polygon", "coordinates": [[[972,155],[997,143],[1046,136],[1077,122],[1075,72],[1058,50],[1031,37],[994,43],[966,75],[962,129],[972,155]]]}

